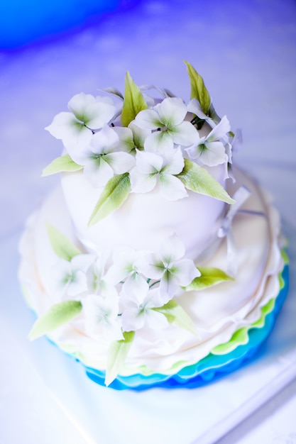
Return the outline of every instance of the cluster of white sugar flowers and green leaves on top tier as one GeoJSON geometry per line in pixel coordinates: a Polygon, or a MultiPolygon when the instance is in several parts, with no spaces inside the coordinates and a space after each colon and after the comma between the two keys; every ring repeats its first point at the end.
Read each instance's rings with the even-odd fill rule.
{"type": "Polygon", "coordinates": [[[83,170],[94,187],[108,187],[114,177],[126,174],[126,194],[156,188],[165,199],[177,200],[191,189],[232,203],[203,167],[225,165],[229,177],[234,134],[226,116],[220,119],[212,102],[204,100],[207,89],[189,66],[195,86],[187,105],[166,89],[158,89],[162,99],[153,99],[146,94],[153,87],[137,87],[128,73],[124,96],[106,89],[119,104],[109,96],[75,95],[68,103],[70,111],[57,114],[46,128],[62,140],[67,155],[49,165],[45,174],[83,170]]]}

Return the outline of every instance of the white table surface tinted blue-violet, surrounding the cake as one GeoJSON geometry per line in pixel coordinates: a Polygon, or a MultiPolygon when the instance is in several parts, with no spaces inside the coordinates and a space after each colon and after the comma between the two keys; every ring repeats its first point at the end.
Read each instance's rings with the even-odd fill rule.
{"type": "Polygon", "coordinates": [[[142,399],[146,410],[138,411],[137,423],[147,443],[202,444],[219,438],[219,444],[296,443],[295,74],[292,0],[138,1],[62,40],[0,53],[1,444],[124,444],[124,439],[142,444],[138,430],[121,421],[121,411],[132,411],[142,399]],[[236,162],[275,196],[290,237],[291,289],[258,359],[192,391],[194,396],[178,394],[180,405],[188,401],[192,408],[186,417],[180,411],[179,424],[172,424],[169,406],[175,395],[155,390],[142,398],[111,390],[106,395],[46,340],[29,343],[33,315],[23,303],[16,270],[23,221],[57,181],[40,178],[61,148],[43,128],[77,92],[123,90],[126,70],[138,84],[168,87],[187,99],[182,60],[203,75],[217,111],[226,113],[234,129],[243,128],[236,162]],[[251,387],[249,396],[245,387],[251,387]],[[155,418],[145,421],[156,395],[168,408],[157,424],[155,418]],[[109,408],[114,409],[112,430],[109,408]]]}

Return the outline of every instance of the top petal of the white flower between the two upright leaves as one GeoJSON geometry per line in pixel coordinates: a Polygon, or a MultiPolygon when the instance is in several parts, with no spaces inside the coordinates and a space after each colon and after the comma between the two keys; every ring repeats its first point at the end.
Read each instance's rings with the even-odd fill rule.
{"type": "Polygon", "coordinates": [[[187,114],[187,106],[180,97],[167,97],[158,105],[160,121],[172,128],[179,125],[187,114]]]}

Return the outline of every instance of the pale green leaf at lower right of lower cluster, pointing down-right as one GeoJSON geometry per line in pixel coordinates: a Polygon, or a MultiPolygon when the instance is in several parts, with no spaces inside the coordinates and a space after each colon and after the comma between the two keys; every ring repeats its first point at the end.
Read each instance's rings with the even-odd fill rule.
{"type": "Polygon", "coordinates": [[[172,323],[177,327],[184,328],[185,330],[190,331],[190,333],[199,336],[197,328],[194,326],[190,316],[188,316],[186,311],[182,309],[182,306],[177,304],[177,302],[173,299],[168,301],[168,304],[153,310],[158,311],[158,313],[162,313],[168,319],[169,323],[172,323]]]}

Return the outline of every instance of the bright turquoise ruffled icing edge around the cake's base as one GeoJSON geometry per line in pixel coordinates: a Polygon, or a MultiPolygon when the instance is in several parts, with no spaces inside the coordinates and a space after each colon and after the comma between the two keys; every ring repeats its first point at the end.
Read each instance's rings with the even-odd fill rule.
{"type": "MultiPolygon", "coordinates": [[[[133,389],[141,391],[153,387],[161,387],[164,389],[187,388],[194,389],[208,382],[218,379],[225,373],[237,370],[244,362],[250,360],[256,354],[258,348],[263,344],[268,335],[270,335],[278,313],[283,306],[287,296],[289,287],[289,270],[288,265],[285,265],[282,278],[284,282],[283,288],[280,290],[278,296],[275,298],[275,306],[273,311],[270,311],[265,316],[264,326],[261,328],[253,327],[248,331],[248,343],[238,345],[234,350],[224,355],[214,355],[209,353],[202,360],[194,365],[188,365],[182,368],[177,374],[152,374],[144,376],[143,374],[133,374],[128,377],[116,377],[109,387],[116,390],[133,389]]],[[[83,364],[82,364],[83,365],[83,364]]],[[[103,385],[105,379],[105,372],[86,367],[84,365],[87,376],[97,384],[103,385]]]]}

